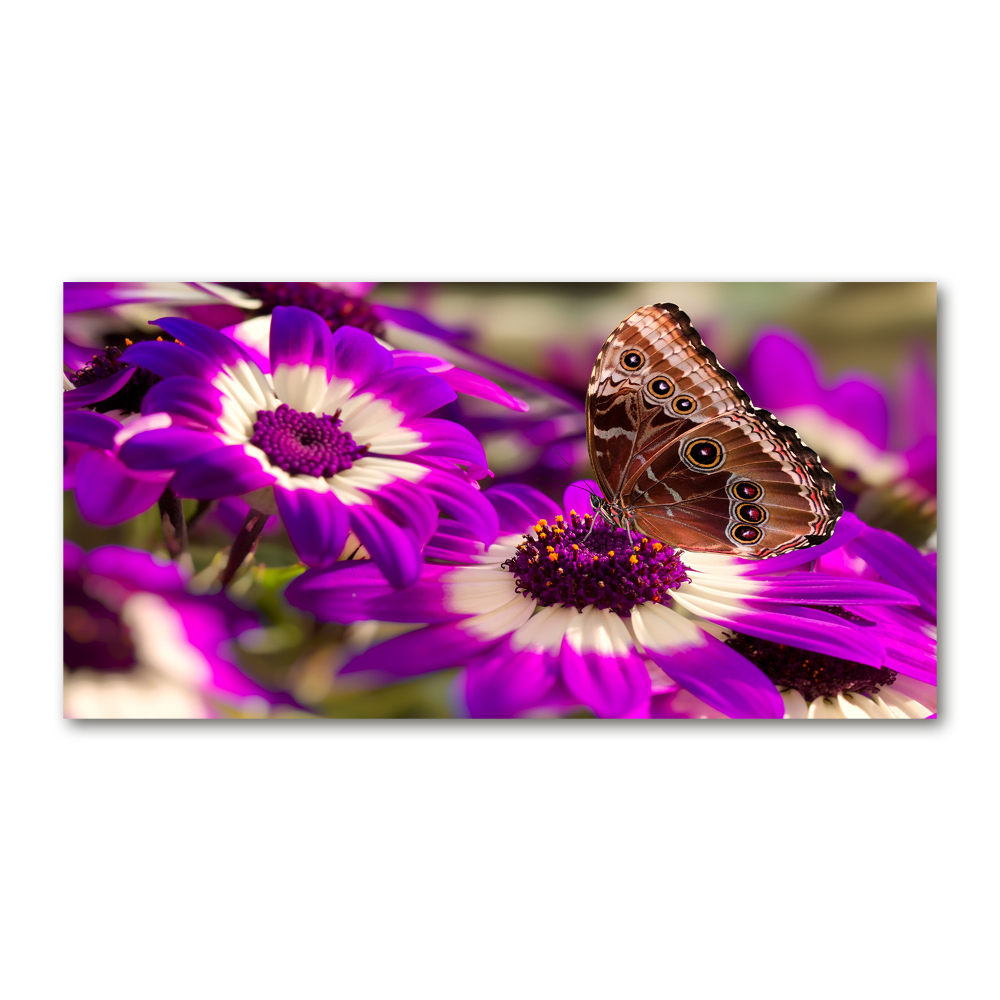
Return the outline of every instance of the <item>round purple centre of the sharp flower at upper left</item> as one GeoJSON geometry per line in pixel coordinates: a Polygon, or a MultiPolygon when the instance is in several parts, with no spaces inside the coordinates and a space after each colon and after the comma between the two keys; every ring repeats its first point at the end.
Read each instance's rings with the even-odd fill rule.
{"type": "Polygon", "coordinates": [[[285,403],[276,410],[258,410],[250,443],[289,475],[329,479],[368,451],[368,445],[340,430],[339,414],[299,413],[285,403]]]}

